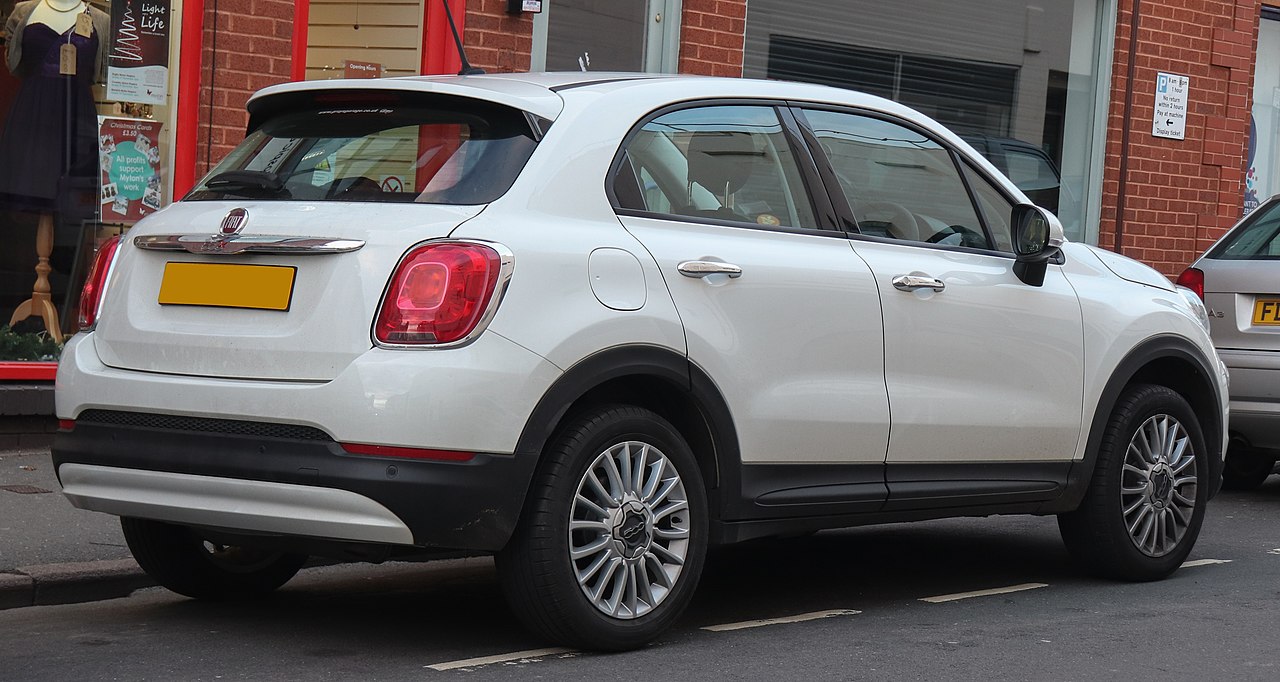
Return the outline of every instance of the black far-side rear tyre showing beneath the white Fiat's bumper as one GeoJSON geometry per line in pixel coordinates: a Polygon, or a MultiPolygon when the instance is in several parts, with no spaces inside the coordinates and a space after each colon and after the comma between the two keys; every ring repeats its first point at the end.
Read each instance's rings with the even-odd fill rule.
{"type": "Polygon", "coordinates": [[[193,599],[261,596],[289,581],[307,560],[288,554],[201,537],[186,526],[120,518],[134,560],[161,586],[193,599]]]}

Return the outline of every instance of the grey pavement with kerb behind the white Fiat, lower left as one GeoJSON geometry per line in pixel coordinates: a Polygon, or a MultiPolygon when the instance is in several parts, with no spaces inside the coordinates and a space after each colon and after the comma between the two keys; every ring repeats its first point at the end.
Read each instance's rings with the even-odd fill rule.
{"type": "Polygon", "coordinates": [[[72,507],[47,448],[0,449],[0,609],[128,596],[155,585],[114,516],[72,507]]]}

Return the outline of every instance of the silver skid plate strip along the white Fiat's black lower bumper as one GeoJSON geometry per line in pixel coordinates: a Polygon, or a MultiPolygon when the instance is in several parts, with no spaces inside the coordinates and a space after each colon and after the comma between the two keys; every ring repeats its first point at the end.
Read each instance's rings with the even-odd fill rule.
{"type": "Polygon", "coordinates": [[[67,463],[63,494],[92,512],[266,534],[412,545],[390,509],[348,490],[67,463]]]}

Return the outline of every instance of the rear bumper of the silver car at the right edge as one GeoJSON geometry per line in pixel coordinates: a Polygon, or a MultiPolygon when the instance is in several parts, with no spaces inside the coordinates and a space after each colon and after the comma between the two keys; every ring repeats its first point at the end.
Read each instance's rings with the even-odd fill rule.
{"type": "Polygon", "coordinates": [[[1280,449],[1280,353],[1219,351],[1231,372],[1230,431],[1257,448],[1280,449]]]}

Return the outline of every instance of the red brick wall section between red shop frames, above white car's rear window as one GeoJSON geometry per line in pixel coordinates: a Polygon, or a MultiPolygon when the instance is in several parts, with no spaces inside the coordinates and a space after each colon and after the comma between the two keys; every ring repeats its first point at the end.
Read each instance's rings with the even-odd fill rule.
{"type": "Polygon", "coordinates": [[[289,81],[292,64],[292,1],[219,0],[216,6],[215,13],[214,3],[205,3],[196,175],[244,138],[244,102],[289,81]]]}

